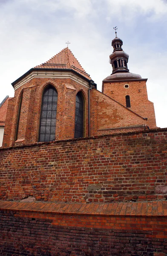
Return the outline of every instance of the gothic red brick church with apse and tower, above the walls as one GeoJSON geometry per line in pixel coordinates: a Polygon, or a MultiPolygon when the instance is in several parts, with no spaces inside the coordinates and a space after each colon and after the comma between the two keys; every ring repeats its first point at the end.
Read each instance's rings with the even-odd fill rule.
{"type": "Polygon", "coordinates": [[[68,47],[14,81],[3,146],[155,128],[147,79],[129,72],[122,44],[112,40],[102,93],[68,47]]]}

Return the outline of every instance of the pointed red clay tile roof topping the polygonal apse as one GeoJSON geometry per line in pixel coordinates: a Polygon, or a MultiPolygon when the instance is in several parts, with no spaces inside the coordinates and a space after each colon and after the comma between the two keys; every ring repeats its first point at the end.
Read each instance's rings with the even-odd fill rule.
{"type": "Polygon", "coordinates": [[[35,68],[72,69],[91,80],[90,76],[85,72],[68,47],[61,50],[58,54],[49,59],[49,61],[46,61],[35,68]]]}

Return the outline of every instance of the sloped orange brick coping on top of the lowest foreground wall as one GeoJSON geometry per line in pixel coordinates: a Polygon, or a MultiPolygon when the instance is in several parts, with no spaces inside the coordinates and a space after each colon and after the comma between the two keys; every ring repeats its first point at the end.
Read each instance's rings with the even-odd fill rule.
{"type": "Polygon", "coordinates": [[[101,215],[124,217],[155,217],[167,216],[167,201],[117,202],[68,204],[50,202],[14,202],[0,201],[0,209],[55,213],[63,215],[101,215]]]}

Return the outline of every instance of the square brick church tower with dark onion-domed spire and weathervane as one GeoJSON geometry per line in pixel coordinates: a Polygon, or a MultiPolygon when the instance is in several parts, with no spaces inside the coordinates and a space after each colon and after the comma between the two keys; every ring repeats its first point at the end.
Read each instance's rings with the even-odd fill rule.
{"type": "Polygon", "coordinates": [[[149,128],[156,127],[153,102],[148,100],[147,79],[130,73],[127,63],[129,55],[122,49],[123,41],[117,37],[112,40],[113,52],[109,55],[112,74],[103,80],[102,93],[121,103],[138,115],[147,119],[149,128]]]}

